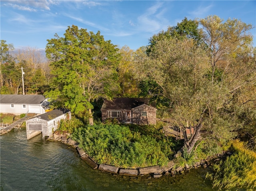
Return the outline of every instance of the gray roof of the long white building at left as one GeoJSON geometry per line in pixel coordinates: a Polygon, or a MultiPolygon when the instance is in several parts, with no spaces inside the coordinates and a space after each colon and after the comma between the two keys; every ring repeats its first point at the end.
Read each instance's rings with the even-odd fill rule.
{"type": "Polygon", "coordinates": [[[43,95],[0,95],[1,104],[34,104],[39,105],[46,98],[43,95]]]}

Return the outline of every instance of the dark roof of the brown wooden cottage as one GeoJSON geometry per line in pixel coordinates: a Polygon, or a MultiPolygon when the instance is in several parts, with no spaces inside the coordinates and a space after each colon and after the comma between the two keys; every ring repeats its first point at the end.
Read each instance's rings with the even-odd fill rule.
{"type": "Polygon", "coordinates": [[[132,108],[146,104],[150,105],[149,98],[114,98],[113,100],[104,100],[101,109],[109,110],[131,110],[132,108]]]}

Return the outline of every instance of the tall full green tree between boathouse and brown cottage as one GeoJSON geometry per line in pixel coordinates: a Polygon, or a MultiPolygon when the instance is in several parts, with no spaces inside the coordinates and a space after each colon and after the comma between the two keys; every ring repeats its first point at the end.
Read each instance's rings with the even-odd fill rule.
{"type": "Polygon", "coordinates": [[[68,27],[64,37],[49,39],[46,56],[52,61],[51,91],[45,95],[58,106],[71,109],[74,114],[89,117],[93,124],[92,102],[111,98],[120,91],[117,67],[118,48],[110,40],[96,34],[68,27]]]}

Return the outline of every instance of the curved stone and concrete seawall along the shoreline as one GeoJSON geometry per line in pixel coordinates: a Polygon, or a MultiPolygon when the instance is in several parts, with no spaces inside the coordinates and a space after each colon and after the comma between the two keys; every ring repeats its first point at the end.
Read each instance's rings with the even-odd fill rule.
{"type": "MultiPolygon", "coordinates": [[[[150,175],[150,177],[153,178],[158,178],[162,177],[162,175],[172,175],[173,177],[176,174],[183,174],[185,172],[190,171],[190,169],[198,168],[198,167],[208,167],[212,166],[215,161],[218,161],[220,159],[226,158],[227,155],[231,155],[229,152],[223,152],[222,154],[219,154],[217,156],[213,156],[211,158],[207,158],[205,160],[202,160],[200,162],[195,163],[194,165],[188,165],[185,164],[185,166],[180,166],[175,168],[175,163],[174,160],[169,161],[169,163],[166,166],[160,167],[159,165],[157,166],[152,166],[152,167],[143,167],[143,168],[136,168],[136,169],[122,169],[119,167],[114,167],[111,165],[106,165],[106,164],[98,164],[96,163],[93,159],[88,156],[84,150],[79,148],[79,144],[72,140],[72,138],[69,138],[70,134],[66,132],[54,132],[52,136],[48,137],[48,140],[55,140],[62,142],[64,144],[67,144],[69,146],[72,146],[73,148],[76,148],[78,154],[80,155],[80,158],[85,161],[92,169],[98,169],[100,171],[105,171],[108,173],[112,173],[115,175],[126,175],[126,176],[133,176],[137,177],[139,175],[144,176],[144,175],[150,175]]],[[[174,158],[177,157],[174,156],[174,158]]]]}

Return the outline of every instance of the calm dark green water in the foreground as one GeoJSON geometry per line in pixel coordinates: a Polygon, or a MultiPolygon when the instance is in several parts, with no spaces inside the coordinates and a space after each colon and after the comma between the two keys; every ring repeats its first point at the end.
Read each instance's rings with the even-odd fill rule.
{"type": "Polygon", "coordinates": [[[1,191],[216,191],[204,177],[209,169],[192,169],[176,177],[134,178],[102,173],[82,161],[74,148],[26,140],[26,129],[0,136],[1,191]]]}

